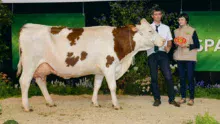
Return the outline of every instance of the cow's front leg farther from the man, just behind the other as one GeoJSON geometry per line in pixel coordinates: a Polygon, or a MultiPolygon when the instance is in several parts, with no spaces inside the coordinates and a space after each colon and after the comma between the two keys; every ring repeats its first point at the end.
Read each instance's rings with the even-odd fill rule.
{"type": "Polygon", "coordinates": [[[93,95],[92,95],[92,104],[95,107],[100,107],[100,105],[98,103],[98,92],[99,92],[99,89],[102,85],[103,78],[104,78],[103,75],[95,75],[94,90],[93,90],[93,95]]]}

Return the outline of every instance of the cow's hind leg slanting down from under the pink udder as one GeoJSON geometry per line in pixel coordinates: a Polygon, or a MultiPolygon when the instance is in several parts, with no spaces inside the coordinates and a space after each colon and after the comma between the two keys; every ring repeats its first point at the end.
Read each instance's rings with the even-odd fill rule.
{"type": "Polygon", "coordinates": [[[46,77],[43,78],[36,78],[36,82],[38,84],[38,86],[40,87],[40,90],[42,92],[42,94],[44,95],[44,98],[46,100],[46,105],[49,107],[54,107],[56,106],[50,96],[50,94],[48,93],[47,90],[47,83],[46,83],[46,77]]]}

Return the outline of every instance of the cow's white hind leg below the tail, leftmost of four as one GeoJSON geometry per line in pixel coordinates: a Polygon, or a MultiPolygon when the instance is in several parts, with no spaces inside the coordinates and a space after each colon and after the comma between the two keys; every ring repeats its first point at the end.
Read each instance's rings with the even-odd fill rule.
{"type": "Polygon", "coordinates": [[[22,105],[23,105],[24,111],[26,112],[33,111],[32,109],[30,109],[29,102],[28,102],[28,90],[30,87],[32,77],[33,77],[33,73],[31,72],[26,73],[25,71],[23,71],[19,79],[19,83],[21,86],[22,105]]]}

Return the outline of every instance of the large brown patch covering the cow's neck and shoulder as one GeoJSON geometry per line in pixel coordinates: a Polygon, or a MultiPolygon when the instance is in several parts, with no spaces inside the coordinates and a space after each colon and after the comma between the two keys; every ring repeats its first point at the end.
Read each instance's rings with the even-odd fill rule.
{"type": "Polygon", "coordinates": [[[119,60],[123,59],[127,54],[131,53],[134,48],[136,42],[133,40],[135,35],[135,31],[132,31],[132,25],[117,27],[112,31],[114,36],[114,50],[119,58],[119,60]]]}

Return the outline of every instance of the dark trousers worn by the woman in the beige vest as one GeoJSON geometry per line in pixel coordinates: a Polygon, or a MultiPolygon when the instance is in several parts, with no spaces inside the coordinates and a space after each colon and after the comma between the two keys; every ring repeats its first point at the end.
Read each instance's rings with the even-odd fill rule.
{"type": "Polygon", "coordinates": [[[186,98],[186,71],[188,78],[188,86],[190,99],[194,99],[195,93],[195,82],[194,82],[194,70],[195,70],[195,61],[177,61],[179,76],[180,76],[180,92],[182,98],[186,98]]]}

